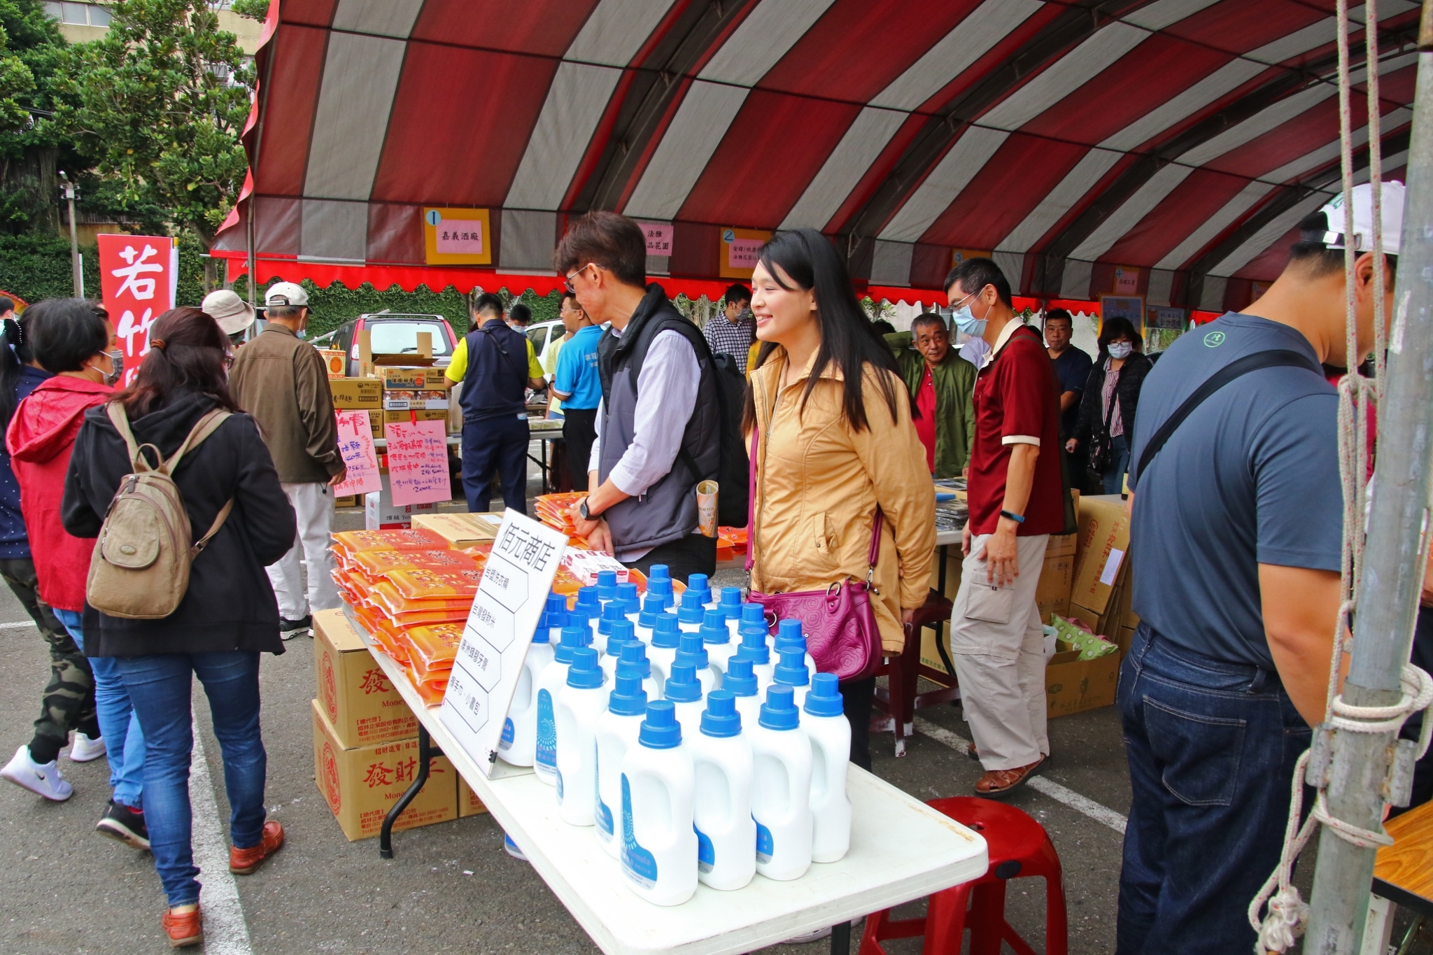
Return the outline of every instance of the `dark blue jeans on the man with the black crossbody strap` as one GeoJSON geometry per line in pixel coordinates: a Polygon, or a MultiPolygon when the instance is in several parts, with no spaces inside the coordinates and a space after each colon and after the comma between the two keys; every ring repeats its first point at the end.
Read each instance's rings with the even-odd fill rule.
{"type": "Polygon", "coordinates": [[[1275,674],[1175,647],[1148,624],[1116,702],[1134,790],[1116,954],[1252,951],[1248,903],[1278,865],[1308,726],[1275,674]]]}

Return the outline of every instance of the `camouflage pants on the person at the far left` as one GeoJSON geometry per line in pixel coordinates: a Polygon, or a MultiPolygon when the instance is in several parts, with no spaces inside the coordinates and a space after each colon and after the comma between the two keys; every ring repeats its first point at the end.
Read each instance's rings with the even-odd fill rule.
{"type": "Polygon", "coordinates": [[[99,736],[95,674],[64,624],[40,600],[34,563],[29,557],[0,557],[0,577],[50,644],[50,682],[40,697],[40,717],[34,720],[34,739],[30,740],[30,759],[47,763],[69,743],[70,730],[92,739],[99,736]]]}

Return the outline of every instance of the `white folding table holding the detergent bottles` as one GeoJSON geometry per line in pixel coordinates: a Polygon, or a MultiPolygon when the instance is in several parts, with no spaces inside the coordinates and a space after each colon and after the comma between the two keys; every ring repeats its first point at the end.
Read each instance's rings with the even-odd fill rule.
{"type": "Polygon", "coordinates": [[[608,955],[737,955],[827,925],[833,926],[831,951],[847,955],[851,919],[984,875],[983,838],[851,766],[851,850],[844,859],[813,865],[791,882],[758,875],[735,892],[702,885],[684,905],[652,905],[628,889],[620,865],[602,849],[590,826],[562,820],[552,786],[532,769],[503,762],[496,763],[492,777],[484,776],[438,720],[437,707],[423,706],[403,667],[371,643],[368,649],[418,719],[421,775],[384,822],[384,858],[393,855],[391,822],[423,787],[428,755],[441,750],[608,955]]]}

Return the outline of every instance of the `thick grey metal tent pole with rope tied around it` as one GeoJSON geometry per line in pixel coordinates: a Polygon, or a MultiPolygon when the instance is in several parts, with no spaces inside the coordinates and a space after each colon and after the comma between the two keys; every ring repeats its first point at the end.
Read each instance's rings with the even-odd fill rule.
{"type": "MultiPolygon", "coordinates": [[[[1379,408],[1379,458],[1343,700],[1393,706],[1409,661],[1427,560],[1433,454],[1433,0],[1423,0],[1419,73],[1409,142],[1403,242],[1379,408]]],[[[1379,830],[1389,799],[1394,733],[1337,732],[1328,769],[1330,815],[1379,830]]],[[[1317,760],[1315,760],[1317,762],[1317,760]]],[[[1328,826],[1318,835],[1310,898],[1308,955],[1351,955],[1363,945],[1377,846],[1360,848],[1328,826]]]]}

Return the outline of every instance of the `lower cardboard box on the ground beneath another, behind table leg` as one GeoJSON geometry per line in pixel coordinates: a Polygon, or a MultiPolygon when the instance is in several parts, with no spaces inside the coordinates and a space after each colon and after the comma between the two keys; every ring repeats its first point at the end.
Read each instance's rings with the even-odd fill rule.
{"type": "MultiPolygon", "coordinates": [[[[345,749],[314,700],[314,782],[350,842],[378,835],[383,818],[418,772],[418,740],[345,749]]],[[[447,756],[433,756],[428,779],[394,829],[457,819],[457,772],[447,756]]]]}

